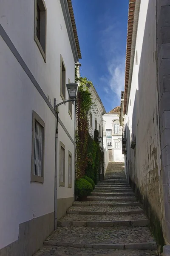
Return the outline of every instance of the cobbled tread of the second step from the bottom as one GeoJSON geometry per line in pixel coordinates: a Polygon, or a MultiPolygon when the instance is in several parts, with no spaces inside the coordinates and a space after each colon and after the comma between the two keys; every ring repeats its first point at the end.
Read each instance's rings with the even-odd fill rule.
{"type": "Polygon", "coordinates": [[[81,215],[66,214],[59,221],[130,221],[130,220],[147,220],[144,214],[132,215],[81,215]]]}

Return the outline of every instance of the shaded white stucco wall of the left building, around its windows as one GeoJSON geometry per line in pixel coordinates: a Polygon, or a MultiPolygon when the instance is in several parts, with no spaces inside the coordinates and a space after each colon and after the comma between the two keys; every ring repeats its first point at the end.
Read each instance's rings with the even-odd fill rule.
{"type": "MultiPolygon", "coordinates": [[[[46,63],[34,41],[34,0],[3,1],[0,23],[20,53],[45,95],[57,102],[60,97],[60,54],[65,62],[66,83],[74,82],[74,58],[59,1],[45,1],[47,7],[46,63]]],[[[66,99],[68,93],[66,92],[66,99]]],[[[59,117],[74,140],[73,117],[68,103],[59,107],[59,117]]],[[[68,150],[72,153],[74,181],[74,144],[59,125],[59,139],[65,144],[65,188],[58,198],[73,197],[68,182],[68,150]]],[[[56,118],[31,80],[0,37],[0,248],[18,239],[19,224],[54,212],[54,160],[56,118]],[[45,122],[44,183],[30,183],[32,111],[45,122]]],[[[59,144],[58,144],[59,152],[59,144]]],[[[59,167],[59,154],[58,154],[59,167]]],[[[59,168],[58,168],[59,178],[59,168]]]]}

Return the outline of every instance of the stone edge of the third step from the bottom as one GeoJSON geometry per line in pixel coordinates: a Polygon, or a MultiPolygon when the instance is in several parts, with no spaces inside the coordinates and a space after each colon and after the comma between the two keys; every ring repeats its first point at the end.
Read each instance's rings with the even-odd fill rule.
{"type": "Polygon", "coordinates": [[[124,212],[97,212],[97,211],[67,211],[67,214],[78,214],[78,215],[132,215],[132,214],[142,214],[143,209],[136,211],[124,211],[124,212]]]}

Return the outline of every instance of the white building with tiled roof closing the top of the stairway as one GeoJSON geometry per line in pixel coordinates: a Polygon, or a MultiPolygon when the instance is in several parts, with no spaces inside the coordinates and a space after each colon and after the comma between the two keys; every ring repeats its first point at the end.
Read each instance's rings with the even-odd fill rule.
{"type": "Polygon", "coordinates": [[[103,115],[103,144],[105,162],[124,162],[122,155],[122,127],[119,122],[120,107],[103,115]]]}

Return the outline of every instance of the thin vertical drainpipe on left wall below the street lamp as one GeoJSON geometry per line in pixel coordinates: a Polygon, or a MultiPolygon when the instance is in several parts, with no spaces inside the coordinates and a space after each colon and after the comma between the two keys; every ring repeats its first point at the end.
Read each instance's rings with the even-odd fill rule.
{"type": "Polygon", "coordinates": [[[58,147],[58,113],[56,113],[56,136],[55,136],[55,178],[54,178],[54,230],[57,229],[57,147],[58,147]]]}

